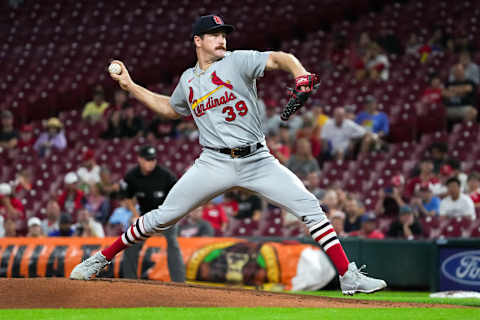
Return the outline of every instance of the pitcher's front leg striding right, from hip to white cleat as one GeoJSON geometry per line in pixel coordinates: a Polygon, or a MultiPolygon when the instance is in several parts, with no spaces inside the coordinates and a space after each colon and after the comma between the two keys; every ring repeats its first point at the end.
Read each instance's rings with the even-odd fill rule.
{"type": "Polygon", "coordinates": [[[242,161],[240,186],[259,193],[293,213],[307,225],[313,239],[320,244],[335,265],[344,293],[374,292],[386,286],[383,280],[365,277],[357,270],[355,263],[348,261],[318,199],[305,188],[295,174],[282,166],[268,151],[242,161]],[[350,285],[350,282],[354,283],[350,285]]]}

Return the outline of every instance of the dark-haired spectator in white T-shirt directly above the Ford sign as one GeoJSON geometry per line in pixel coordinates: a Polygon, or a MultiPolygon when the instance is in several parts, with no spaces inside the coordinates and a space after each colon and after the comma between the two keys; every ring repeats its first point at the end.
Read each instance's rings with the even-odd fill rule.
{"type": "Polygon", "coordinates": [[[440,202],[440,215],[475,219],[475,206],[468,195],[460,192],[460,180],[456,177],[450,178],[446,185],[448,196],[440,202]]]}

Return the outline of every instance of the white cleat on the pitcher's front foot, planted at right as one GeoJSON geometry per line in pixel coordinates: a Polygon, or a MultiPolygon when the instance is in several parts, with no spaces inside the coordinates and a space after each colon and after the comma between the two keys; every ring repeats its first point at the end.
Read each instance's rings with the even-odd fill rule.
{"type": "Polygon", "coordinates": [[[365,266],[357,268],[355,262],[350,262],[347,272],[340,276],[340,288],[345,295],[353,295],[357,292],[373,293],[385,289],[387,283],[380,279],[367,277],[363,272],[365,266]]]}

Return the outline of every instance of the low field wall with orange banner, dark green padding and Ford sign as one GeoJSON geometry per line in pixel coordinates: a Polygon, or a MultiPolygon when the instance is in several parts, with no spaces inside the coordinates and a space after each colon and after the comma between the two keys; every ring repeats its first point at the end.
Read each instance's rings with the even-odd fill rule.
{"type": "MultiPolygon", "coordinates": [[[[63,277],[82,259],[111,243],[113,238],[2,238],[0,277],[63,277]]],[[[250,285],[276,285],[291,289],[303,273],[331,279],[328,260],[311,239],[284,238],[188,238],[179,239],[187,265],[187,277],[210,281],[224,277],[250,279],[250,285]],[[302,242],[299,244],[297,241],[302,242]],[[242,244],[243,243],[243,244],[242,244]],[[257,244],[256,244],[257,243],[257,244]],[[310,251],[306,250],[310,248],[310,251]],[[314,249],[314,250],[312,250],[314,249]],[[310,255],[320,268],[305,269],[310,255]],[[320,253],[318,253],[320,252],[320,253]],[[315,252],[313,252],[315,253],[315,252]],[[223,259],[223,260],[222,260],[223,259]],[[223,262],[222,262],[223,261],[223,262]],[[325,265],[326,264],[326,265],[325,265]],[[238,270],[237,270],[238,269],[238,270]],[[202,275],[202,277],[200,277],[202,275]],[[253,279],[253,280],[252,280],[253,279]],[[260,280],[259,280],[260,279],[260,280]]],[[[480,291],[480,241],[441,239],[437,241],[364,240],[341,242],[351,261],[367,265],[369,275],[385,279],[390,288],[411,290],[480,291]]],[[[135,263],[134,277],[169,281],[166,243],[163,237],[146,241],[137,261],[120,254],[102,276],[125,277],[125,264],[135,263]]],[[[231,280],[231,279],[230,279],[231,280]]],[[[328,281],[322,279],[314,285],[328,281]]]]}

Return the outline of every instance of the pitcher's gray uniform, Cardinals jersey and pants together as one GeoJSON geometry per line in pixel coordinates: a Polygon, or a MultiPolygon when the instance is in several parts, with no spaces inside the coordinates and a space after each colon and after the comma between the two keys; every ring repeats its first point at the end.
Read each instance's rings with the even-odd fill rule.
{"type": "MultiPolygon", "coordinates": [[[[268,56],[234,51],[205,72],[196,67],[183,73],[170,104],[182,115],[193,115],[203,146],[235,148],[264,141],[255,79],[263,75],[268,56]]],[[[168,229],[198,205],[233,187],[263,196],[310,228],[326,219],[317,198],[266,146],[238,158],[206,148],[165,202],[140,217],[122,241],[128,245],[168,229]]]]}

